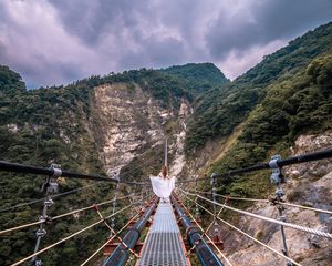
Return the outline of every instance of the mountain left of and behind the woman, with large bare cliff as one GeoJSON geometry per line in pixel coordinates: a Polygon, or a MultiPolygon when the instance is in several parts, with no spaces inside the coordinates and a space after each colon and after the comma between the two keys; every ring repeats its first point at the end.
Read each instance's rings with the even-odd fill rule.
{"type": "MultiPolygon", "coordinates": [[[[211,65],[190,64],[183,66],[181,73],[189,71],[187,68],[197,68],[200,73],[205,68],[211,69],[211,65]]],[[[175,135],[180,131],[180,106],[190,109],[190,102],[197,94],[193,88],[199,83],[195,78],[177,76],[174,70],[166,72],[133,70],[91,76],[68,86],[27,90],[18,73],[1,66],[0,158],[44,167],[54,162],[68,171],[120,175],[128,181],[157,174],[163,162],[164,140],[169,135],[170,144],[176,141],[175,135]]],[[[225,80],[218,70],[214,81],[205,81],[204,85],[211,89],[225,80]],[[218,80],[218,76],[222,79],[218,80]]],[[[176,151],[170,151],[169,157],[175,155],[176,151]]],[[[43,182],[44,178],[39,176],[1,173],[1,209],[43,197],[40,191],[43,182]]],[[[60,193],[86,184],[90,183],[65,180],[60,193]]],[[[127,194],[131,188],[122,190],[127,194]]],[[[51,213],[56,215],[63,209],[80,208],[113,196],[110,185],[94,186],[58,198],[51,213]]],[[[34,221],[39,214],[39,207],[28,206],[0,212],[0,221],[7,228],[34,221]]],[[[93,218],[91,214],[83,217],[84,223],[93,218]]],[[[43,243],[51,244],[63,233],[74,232],[81,219],[69,218],[56,223],[54,228],[48,229],[43,243]]],[[[8,265],[14,258],[28,255],[30,246],[35,243],[34,231],[28,231],[27,242],[27,232],[6,237],[4,245],[0,247],[0,264],[8,265]]],[[[94,247],[104,242],[105,235],[104,229],[92,229],[81,238],[77,249],[65,245],[58,253],[45,254],[43,259],[50,262],[48,265],[60,265],[61,257],[71,256],[72,264],[76,265],[82,256],[93,253],[94,247]]]]}

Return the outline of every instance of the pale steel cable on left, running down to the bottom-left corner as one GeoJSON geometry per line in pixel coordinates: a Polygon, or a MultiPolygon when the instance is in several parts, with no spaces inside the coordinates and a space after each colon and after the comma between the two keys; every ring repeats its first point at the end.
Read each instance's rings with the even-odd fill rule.
{"type": "MultiPolygon", "coordinates": [[[[112,216],[117,215],[117,214],[124,212],[125,209],[127,209],[127,208],[129,208],[129,207],[132,207],[132,206],[133,206],[133,204],[131,204],[131,205],[128,205],[128,206],[126,206],[126,207],[123,207],[122,209],[117,211],[116,213],[111,214],[111,215],[108,215],[107,217],[105,217],[105,219],[108,219],[108,218],[111,218],[112,216]]],[[[80,234],[82,234],[83,232],[85,232],[85,231],[87,231],[87,229],[90,229],[90,228],[92,228],[92,227],[94,227],[94,226],[96,226],[96,225],[98,225],[98,224],[101,224],[101,223],[103,223],[103,222],[104,222],[104,218],[98,219],[97,222],[95,222],[95,223],[93,223],[93,224],[91,224],[91,225],[84,227],[83,229],[80,229],[80,231],[77,231],[77,232],[75,232],[75,233],[73,233],[73,234],[71,234],[71,235],[69,235],[69,236],[66,236],[66,237],[64,237],[64,238],[62,238],[62,239],[60,239],[60,241],[58,241],[58,242],[55,242],[55,243],[49,245],[49,246],[46,246],[46,247],[43,248],[43,249],[40,249],[39,252],[33,253],[33,254],[29,255],[28,257],[24,257],[24,258],[20,259],[19,262],[12,264],[11,266],[20,265],[20,264],[27,262],[28,259],[33,258],[34,256],[37,256],[37,255],[39,255],[39,254],[42,254],[42,253],[44,253],[44,252],[51,249],[52,247],[58,246],[59,244],[61,244],[61,243],[63,243],[63,242],[65,242],[65,241],[69,241],[69,239],[71,239],[71,238],[73,238],[74,236],[80,235],[80,234]]]]}

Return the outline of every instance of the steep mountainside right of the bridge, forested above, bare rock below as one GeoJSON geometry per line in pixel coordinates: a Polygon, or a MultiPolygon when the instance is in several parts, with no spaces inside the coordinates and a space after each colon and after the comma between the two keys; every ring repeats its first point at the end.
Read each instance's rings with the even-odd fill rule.
{"type": "MultiPolygon", "coordinates": [[[[189,119],[184,176],[209,176],[268,162],[272,155],[301,155],[332,146],[332,23],[291,41],[264,57],[231,83],[201,95],[189,119]]],[[[284,167],[284,200],[331,209],[332,160],[284,167]]],[[[217,193],[232,197],[273,198],[270,172],[218,180],[217,193]]],[[[210,190],[208,182],[203,190],[210,190]]],[[[279,217],[271,204],[230,201],[231,206],[267,217],[279,217]]],[[[293,207],[287,221],[331,232],[331,219],[293,207]]],[[[221,217],[263,243],[282,249],[280,228],[234,212],[221,217]]],[[[253,245],[220,223],[225,253],[236,265],[280,265],[266,248],[253,245]]],[[[301,265],[330,265],[331,242],[287,231],[290,257],[301,265]]]]}

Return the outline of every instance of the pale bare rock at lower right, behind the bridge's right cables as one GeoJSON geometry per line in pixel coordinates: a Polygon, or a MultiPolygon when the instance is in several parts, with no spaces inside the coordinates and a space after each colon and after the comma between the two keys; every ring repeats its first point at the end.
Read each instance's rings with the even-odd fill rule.
{"type": "MultiPolygon", "coordinates": [[[[299,155],[330,146],[332,146],[332,133],[301,135],[291,147],[291,153],[299,155]]],[[[293,165],[286,168],[284,174],[288,183],[282,188],[287,202],[332,211],[331,160],[293,165]]],[[[256,204],[249,211],[272,218],[279,216],[276,207],[269,204],[256,204]]],[[[331,215],[297,207],[286,207],[283,213],[290,223],[332,233],[331,215]]],[[[278,252],[282,250],[279,225],[243,216],[240,218],[239,227],[278,252]]],[[[225,234],[226,253],[230,255],[234,265],[286,265],[284,259],[267,248],[253,244],[249,238],[239,236],[232,231],[229,233],[229,227],[222,226],[222,231],[228,231],[225,234]]],[[[331,265],[331,241],[290,228],[286,228],[286,237],[291,258],[302,265],[331,265]]]]}

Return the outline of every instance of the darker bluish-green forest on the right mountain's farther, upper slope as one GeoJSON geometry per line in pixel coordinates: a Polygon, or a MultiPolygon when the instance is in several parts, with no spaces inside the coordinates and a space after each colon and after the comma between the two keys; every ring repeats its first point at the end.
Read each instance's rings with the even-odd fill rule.
{"type": "Polygon", "coordinates": [[[231,134],[249,112],[266,99],[270,85],[290,80],[311,60],[329,52],[331,47],[332,23],[329,23],[267,55],[234,82],[205,94],[188,126],[187,152],[204,146],[208,140],[231,134]]]}

